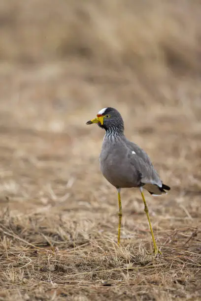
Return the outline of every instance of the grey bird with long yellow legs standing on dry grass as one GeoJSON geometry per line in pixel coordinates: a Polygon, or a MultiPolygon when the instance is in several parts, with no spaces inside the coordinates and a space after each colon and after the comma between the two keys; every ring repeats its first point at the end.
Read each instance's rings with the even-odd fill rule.
{"type": "Polygon", "coordinates": [[[170,187],[161,181],[147,153],[126,138],[124,134],[124,120],[115,108],[103,108],[98,112],[97,118],[86,122],[86,124],[93,123],[97,123],[100,128],[105,130],[100,152],[100,171],[104,178],[117,189],[118,193],[118,245],[120,245],[122,223],[121,189],[135,187],[139,188],[144,203],[144,211],[151,231],[154,253],[155,255],[162,254],[154,238],[143,189],[155,196],[167,193],[170,187]]]}

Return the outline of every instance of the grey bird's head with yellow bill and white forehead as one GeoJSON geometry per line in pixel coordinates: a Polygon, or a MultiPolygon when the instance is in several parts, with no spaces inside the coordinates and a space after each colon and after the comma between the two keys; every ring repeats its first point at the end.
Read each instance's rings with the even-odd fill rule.
{"type": "Polygon", "coordinates": [[[108,107],[99,111],[97,118],[87,121],[86,124],[97,123],[106,131],[124,132],[124,120],[114,108],[108,107]]]}

